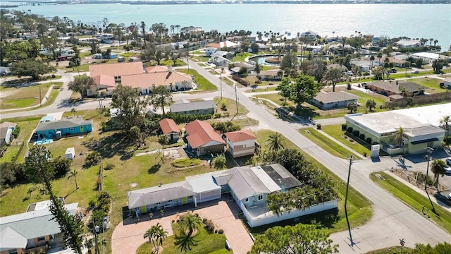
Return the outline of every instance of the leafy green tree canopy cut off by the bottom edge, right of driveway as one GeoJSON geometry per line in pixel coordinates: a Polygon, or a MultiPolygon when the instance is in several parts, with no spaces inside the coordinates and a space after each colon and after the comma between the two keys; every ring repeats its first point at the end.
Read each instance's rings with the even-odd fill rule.
{"type": "Polygon", "coordinates": [[[338,245],[332,245],[330,234],[314,225],[274,226],[259,234],[250,253],[273,254],[328,254],[338,253],[338,245]]]}

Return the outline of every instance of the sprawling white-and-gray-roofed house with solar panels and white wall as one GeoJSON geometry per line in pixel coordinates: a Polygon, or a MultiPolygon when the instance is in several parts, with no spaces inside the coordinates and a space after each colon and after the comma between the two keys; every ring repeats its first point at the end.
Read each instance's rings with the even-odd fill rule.
{"type": "Polygon", "coordinates": [[[185,181],[129,191],[128,208],[141,214],[179,205],[192,210],[202,202],[218,200],[223,193],[229,193],[242,210],[247,224],[255,227],[338,207],[338,200],[330,200],[304,210],[282,210],[279,214],[270,211],[266,205],[268,195],[292,188],[303,188],[303,184],[280,164],[234,167],[187,176],[185,181]]]}

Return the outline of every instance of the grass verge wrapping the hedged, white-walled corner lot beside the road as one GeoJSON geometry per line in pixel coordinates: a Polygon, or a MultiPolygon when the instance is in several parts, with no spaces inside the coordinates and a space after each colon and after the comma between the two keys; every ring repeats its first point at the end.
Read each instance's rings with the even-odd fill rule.
{"type": "MultiPolygon", "coordinates": [[[[257,142],[265,146],[266,140],[268,140],[269,135],[271,135],[273,131],[268,130],[259,130],[255,131],[254,135],[257,136],[257,142]]],[[[285,148],[292,148],[292,149],[299,149],[295,144],[293,144],[288,138],[285,138],[284,142],[285,148]]],[[[302,150],[300,151],[302,152],[302,150]]],[[[338,232],[347,229],[347,223],[345,218],[345,191],[346,191],[346,183],[345,181],[342,181],[338,176],[332,173],[329,169],[324,167],[323,164],[319,163],[308,155],[307,153],[304,153],[305,157],[309,159],[309,161],[314,164],[315,167],[318,167],[321,169],[321,171],[325,172],[328,176],[330,176],[335,183],[337,183],[338,187],[338,195],[340,197],[340,200],[338,201],[338,213],[330,214],[314,214],[311,216],[306,216],[301,218],[301,222],[305,224],[316,224],[321,229],[328,231],[329,233],[338,232]]],[[[371,219],[371,216],[373,214],[373,210],[371,208],[371,202],[364,198],[364,196],[356,191],[352,186],[350,186],[348,195],[347,195],[347,214],[350,219],[350,225],[352,227],[360,226],[365,224],[366,222],[371,219]]],[[[278,225],[288,225],[288,224],[295,224],[292,220],[288,220],[282,223],[277,223],[278,225]]],[[[265,229],[267,229],[270,226],[275,225],[268,225],[265,227],[258,227],[251,229],[252,234],[259,234],[262,233],[265,229]]]]}

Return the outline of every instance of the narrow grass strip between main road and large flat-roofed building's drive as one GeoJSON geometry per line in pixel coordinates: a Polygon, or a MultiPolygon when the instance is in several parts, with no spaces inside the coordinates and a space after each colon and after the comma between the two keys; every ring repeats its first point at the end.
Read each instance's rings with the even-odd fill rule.
{"type": "Polygon", "coordinates": [[[340,157],[346,159],[346,157],[350,155],[354,155],[352,152],[348,151],[345,147],[338,145],[333,142],[325,135],[321,134],[319,131],[316,131],[314,128],[301,128],[299,129],[299,133],[304,135],[309,140],[313,141],[316,145],[319,145],[321,148],[330,153],[330,155],[334,155],[336,157],[340,157]]]}

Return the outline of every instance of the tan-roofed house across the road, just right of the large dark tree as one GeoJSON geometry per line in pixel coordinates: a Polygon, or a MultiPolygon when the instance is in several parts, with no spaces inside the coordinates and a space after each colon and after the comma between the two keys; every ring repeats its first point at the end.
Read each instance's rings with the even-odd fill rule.
{"type": "Polygon", "coordinates": [[[320,91],[313,99],[309,100],[310,104],[314,104],[320,109],[332,109],[347,107],[350,102],[357,103],[358,96],[352,95],[348,92],[323,92],[320,91]]]}

